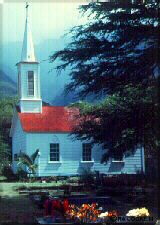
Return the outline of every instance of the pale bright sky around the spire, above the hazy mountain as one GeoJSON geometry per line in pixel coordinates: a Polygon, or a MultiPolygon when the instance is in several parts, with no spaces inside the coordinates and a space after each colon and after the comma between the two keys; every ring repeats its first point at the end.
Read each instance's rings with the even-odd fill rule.
{"type": "MultiPolygon", "coordinates": [[[[78,6],[81,2],[32,1],[29,3],[30,25],[35,44],[44,39],[58,39],[71,27],[85,23],[78,6]]],[[[2,8],[2,42],[22,41],[25,25],[25,2],[8,1],[2,8]]]]}

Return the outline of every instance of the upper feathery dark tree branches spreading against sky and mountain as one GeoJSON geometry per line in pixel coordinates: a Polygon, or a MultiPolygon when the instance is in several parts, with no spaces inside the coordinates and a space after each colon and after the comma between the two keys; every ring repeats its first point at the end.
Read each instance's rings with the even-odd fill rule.
{"type": "Polygon", "coordinates": [[[90,3],[86,25],[74,27],[72,42],[50,57],[59,58],[58,70],[71,66],[67,90],[112,94],[129,83],[151,78],[157,64],[158,4],[90,3]],[[94,15],[94,17],[92,16],[94,15]]]}

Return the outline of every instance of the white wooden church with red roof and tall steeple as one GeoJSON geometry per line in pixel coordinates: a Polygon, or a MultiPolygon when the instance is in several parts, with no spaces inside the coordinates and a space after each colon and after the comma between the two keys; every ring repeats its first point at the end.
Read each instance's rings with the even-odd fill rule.
{"type": "Polygon", "coordinates": [[[83,168],[104,174],[135,174],[145,171],[144,150],[101,164],[104,153],[100,145],[73,140],[74,110],[64,106],[43,106],[40,88],[40,65],[35,57],[32,33],[26,7],[26,24],[22,55],[18,68],[18,98],[10,130],[12,137],[12,168],[17,171],[17,155],[32,155],[37,149],[37,176],[71,176],[83,168]]]}

